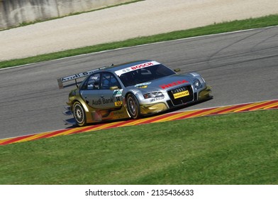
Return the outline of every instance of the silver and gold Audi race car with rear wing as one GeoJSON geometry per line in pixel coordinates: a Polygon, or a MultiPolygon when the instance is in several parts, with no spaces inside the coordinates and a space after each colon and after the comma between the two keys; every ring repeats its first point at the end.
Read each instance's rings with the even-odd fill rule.
{"type": "Polygon", "coordinates": [[[140,60],[59,78],[60,88],[75,80],[67,115],[79,127],[116,119],[138,119],[211,99],[211,87],[196,72],[179,75],[155,60],[140,60]],[[85,77],[78,84],[77,79],[85,77]]]}

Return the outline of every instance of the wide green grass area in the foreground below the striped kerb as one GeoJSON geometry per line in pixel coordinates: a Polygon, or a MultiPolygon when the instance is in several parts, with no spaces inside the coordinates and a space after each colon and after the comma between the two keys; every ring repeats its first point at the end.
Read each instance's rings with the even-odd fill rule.
{"type": "Polygon", "coordinates": [[[278,111],[1,146],[0,184],[277,184],[278,111]]]}

